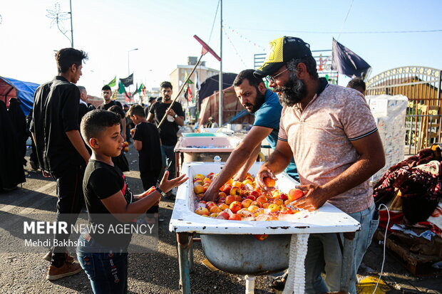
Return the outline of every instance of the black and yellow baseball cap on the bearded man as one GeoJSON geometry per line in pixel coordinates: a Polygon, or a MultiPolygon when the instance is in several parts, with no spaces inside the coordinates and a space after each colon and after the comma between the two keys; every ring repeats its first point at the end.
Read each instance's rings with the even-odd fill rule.
{"type": "Polygon", "coordinates": [[[255,77],[264,78],[267,75],[276,73],[288,61],[312,56],[310,45],[300,38],[281,37],[269,43],[269,51],[264,59],[264,64],[255,70],[255,77]]]}

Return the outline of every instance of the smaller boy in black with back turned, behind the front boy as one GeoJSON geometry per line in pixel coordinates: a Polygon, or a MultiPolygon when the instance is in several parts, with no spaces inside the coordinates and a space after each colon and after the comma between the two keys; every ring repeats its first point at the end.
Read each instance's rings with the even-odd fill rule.
{"type": "MultiPolygon", "coordinates": [[[[143,189],[147,190],[157,184],[163,165],[160,135],[157,127],[146,120],[144,109],[140,105],[132,105],[127,115],[135,124],[133,147],[138,150],[140,178],[143,182],[143,189]]],[[[152,206],[148,214],[158,216],[158,206],[152,206]]]]}

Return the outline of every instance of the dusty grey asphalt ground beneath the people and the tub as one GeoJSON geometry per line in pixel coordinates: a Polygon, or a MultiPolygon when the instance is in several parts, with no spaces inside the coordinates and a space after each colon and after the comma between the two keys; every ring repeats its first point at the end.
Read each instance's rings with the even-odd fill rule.
{"type": "MultiPolygon", "coordinates": [[[[141,191],[138,178],[137,152],[130,146],[128,182],[135,193],[141,191]]],[[[56,212],[56,185],[40,172],[30,172],[26,167],[26,183],[14,191],[0,193],[1,224],[6,218],[24,213],[56,212]]],[[[165,221],[159,224],[158,252],[133,253],[129,256],[129,293],[178,293],[178,259],[175,235],[168,231],[168,221],[173,211],[173,201],[160,204],[160,214],[165,221]]],[[[49,282],[45,279],[48,262],[43,253],[0,253],[0,293],[92,293],[85,273],[49,282]]],[[[244,278],[220,271],[212,272],[202,265],[205,259],[201,245],[195,244],[195,272],[190,275],[192,293],[245,293],[244,278]]],[[[368,275],[379,275],[382,247],[372,243],[359,269],[359,280],[368,275]]],[[[269,277],[259,277],[255,293],[273,293],[267,286],[269,277]]],[[[436,276],[416,278],[401,266],[399,260],[387,254],[384,280],[389,293],[442,293],[441,278],[436,276]]],[[[367,293],[371,293],[367,292],[367,293]]]]}

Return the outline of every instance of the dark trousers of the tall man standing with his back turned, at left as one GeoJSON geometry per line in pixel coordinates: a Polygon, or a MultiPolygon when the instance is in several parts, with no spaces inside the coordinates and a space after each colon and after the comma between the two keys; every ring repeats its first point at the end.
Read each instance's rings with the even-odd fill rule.
{"type": "MultiPolygon", "coordinates": [[[[57,222],[64,221],[67,231],[71,231],[71,225],[75,225],[78,214],[84,204],[83,176],[84,166],[71,166],[62,171],[53,172],[51,175],[57,182],[57,222]]],[[[71,233],[57,232],[54,236],[52,265],[60,267],[66,260],[66,246],[71,233]]]]}

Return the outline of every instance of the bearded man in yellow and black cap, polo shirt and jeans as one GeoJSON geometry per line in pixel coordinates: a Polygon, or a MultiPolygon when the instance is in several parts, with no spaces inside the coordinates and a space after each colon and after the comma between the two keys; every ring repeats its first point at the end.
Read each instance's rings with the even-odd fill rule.
{"type": "MultiPolygon", "coordinates": [[[[293,156],[302,184],[299,189],[308,191],[292,202],[294,206],[314,210],[328,201],[359,221],[349,285],[350,293],[356,293],[356,272],[378,225],[369,178],[385,164],[369,106],[361,93],[319,78],[309,44],[300,38],[270,42],[267,58],[255,75],[267,78],[283,106],[277,147],[262,165],[257,183],[265,189],[262,179],[275,178],[293,156]]],[[[338,239],[336,233],[310,235],[306,293],[340,290],[338,239]]]]}

